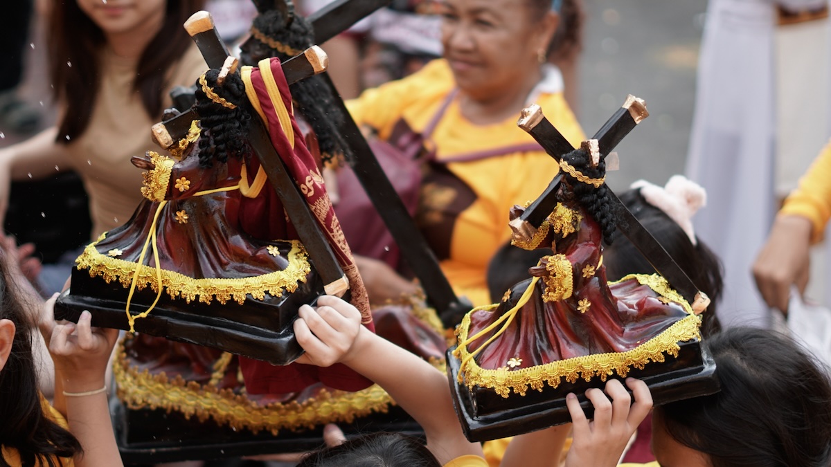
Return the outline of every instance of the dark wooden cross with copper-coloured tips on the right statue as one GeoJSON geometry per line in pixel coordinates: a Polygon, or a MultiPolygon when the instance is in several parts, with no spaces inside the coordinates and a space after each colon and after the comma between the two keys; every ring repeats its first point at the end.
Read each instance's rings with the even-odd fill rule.
{"type": "MultiPolygon", "coordinates": [[[[623,107],[595,135],[597,145],[594,147],[594,151],[591,151],[592,148],[588,148],[590,154],[594,152],[592,154],[593,159],[600,160],[605,157],[632,128],[647,116],[649,116],[649,113],[646,106],[643,105],[643,101],[634,96],[629,96],[623,107]]],[[[534,137],[534,140],[537,140],[543,146],[548,155],[551,155],[558,162],[562,155],[574,150],[568,140],[543,116],[543,111],[539,106],[530,106],[525,109],[517,125],[528,131],[534,137]]],[[[588,142],[591,143],[591,141],[588,142]]],[[[525,209],[522,216],[511,222],[511,228],[514,230],[515,236],[526,240],[530,239],[530,236],[533,236],[536,229],[542,224],[542,220],[553,212],[556,204],[556,201],[553,200],[553,194],[558,189],[559,184],[562,183],[562,177],[562,174],[554,177],[545,192],[528,209],[525,209]],[[529,212],[532,209],[534,212],[529,212]],[[538,219],[539,213],[543,212],[546,212],[546,214],[539,220],[539,224],[533,224],[538,219]]],[[[614,204],[612,208],[617,210],[618,220],[622,221],[618,223],[617,228],[629,238],[644,258],[647,258],[652,267],[666,278],[687,302],[691,303],[694,312],[703,312],[710,304],[710,298],[696,287],[696,284],[678,266],[678,263],[672,259],[669,253],[666,253],[661,243],[658,243],[655,237],[652,237],[652,234],[643,227],[635,215],[617,198],[617,195],[611,189],[609,192],[612,194],[612,204],[614,204]]]]}

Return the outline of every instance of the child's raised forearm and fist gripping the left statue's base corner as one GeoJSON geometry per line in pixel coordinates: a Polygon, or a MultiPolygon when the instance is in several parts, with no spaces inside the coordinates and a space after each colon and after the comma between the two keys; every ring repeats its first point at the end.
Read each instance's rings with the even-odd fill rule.
{"type": "Polygon", "coordinates": [[[306,354],[299,363],[340,361],[384,388],[425,430],[427,449],[444,465],[461,455],[482,455],[462,434],[447,376],[418,356],[361,326],[361,313],[337,297],[320,297],[317,310],[300,307],[294,322],[306,354]]]}

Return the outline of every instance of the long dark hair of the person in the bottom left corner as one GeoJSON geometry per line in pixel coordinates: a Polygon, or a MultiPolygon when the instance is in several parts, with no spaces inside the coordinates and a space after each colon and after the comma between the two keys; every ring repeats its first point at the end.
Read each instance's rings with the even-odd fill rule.
{"type": "MultiPolygon", "coordinates": [[[[10,320],[16,329],[12,351],[0,371],[0,445],[16,449],[22,465],[59,467],[57,457],[81,453],[81,444],[43,411],[32,357],[32,317],[14,284],[0,259],[0,319],[10,320]]],[[[0,466],[8,467],[2,456],[0,466]]]]}

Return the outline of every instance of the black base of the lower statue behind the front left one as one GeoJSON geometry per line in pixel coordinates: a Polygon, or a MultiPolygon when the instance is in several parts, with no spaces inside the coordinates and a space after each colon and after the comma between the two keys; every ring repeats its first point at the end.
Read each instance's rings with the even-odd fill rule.
{"type": "MultiPolygon", "coordinates": [[[[297,432],[281,430],[277,436],[267,431],[255,435],[249,430],[219,426],[213,420],[187,420],[176,412],[129,410],[116,397],[110,400],[110,410],[116,444],[125,465],[307,452],[323,445],[322,426],[297,432]]],[[[347,439],[376,431],[424,437],[420,425],[398,406],[349,424],[339,423],[338,427],[347,439]]]]}

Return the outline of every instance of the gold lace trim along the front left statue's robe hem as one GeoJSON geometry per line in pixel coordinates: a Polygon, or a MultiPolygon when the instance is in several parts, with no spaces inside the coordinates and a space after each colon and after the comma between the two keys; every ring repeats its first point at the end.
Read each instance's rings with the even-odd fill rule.
{"type": "MultiPolygon", "coordinates": [[[[78,269],[88,269],[90,277],[103,278],[106,283],[118,281],[124,288],[130,288],[130,283],[138,270],[136,288],[142,290],[148,286],[159,292],[159,284],[156,281],[156,268],[150,268],[144,264],[133,263],[123,259],[110,258],[101,254],[96,249],[96,243],[106,238],[101,238],[84,248],[76,260],[78,269]]],[[[182,297],[186,302],[191,302],[199,297],[199,302],[210,303],[215,299],[220,303],[234,300],[240,305],[245,302],[247,294],[262,300],[265,293],[273,297],[281,297],[283,289],[287,292],[297,290],[298,283],[305,283],[307,274],[311,267],[306,258],[306,250],[297,240],[291,240],[292,249],[288,253],[288,267],[283,271],[254,276],[251,278],[203,278],[194,279],[174,271],[161,270],[161,285],[167,289],[171,298],[182,297]]]]}

